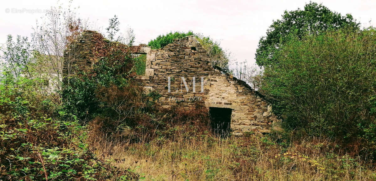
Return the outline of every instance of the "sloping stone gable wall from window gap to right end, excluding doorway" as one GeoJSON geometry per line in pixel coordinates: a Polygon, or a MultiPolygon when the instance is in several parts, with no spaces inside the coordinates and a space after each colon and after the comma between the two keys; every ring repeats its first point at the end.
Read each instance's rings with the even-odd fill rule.
{"type": "Polygon", "coordinates": [[[194,36],[176,40],[162,49],[151,50],[147,55],[147,67],[150,64],[153,69],[153,75],[146,80],[146,86],[149,87],[147,90],[157,90],[162,95],[158,99],[158,104],[162,107],[177,105],[190,109],[195,103],[201,103],[206,108],[231,108],[231,129],[235,135],[250,131],[270,132],[271,126],[278,124],[279,120],[271,113],[271,105],[255,91],[211,66],[207,52],[194,36]],[[191,47],[196,50],[191,50],[191,47]],[[168,76],[171,77],[170,93],[168,76]],[[192,77],[196,77],[196,93],[192,92],[192,84],[186,92],[180,79],[182,76],[187,85],[191,83],[192,77]],[[205,77],[204,93],[200,93],[200,77],[205,77]],[[191,100],[192,96],[202,99],[191,100]],[[177,101],[171,97],[177,98],[177,101]]]}

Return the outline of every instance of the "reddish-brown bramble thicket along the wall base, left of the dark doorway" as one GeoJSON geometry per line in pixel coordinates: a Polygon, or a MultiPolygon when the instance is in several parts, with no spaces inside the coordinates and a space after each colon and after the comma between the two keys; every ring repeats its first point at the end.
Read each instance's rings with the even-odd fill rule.
{"type": "Polygon", "coordinates": [[[161,110],[152,102],[152,95],[141,93],[139,87],[101,90],[99,96],[106,114],[89,124],[89,140],[147,143],[159,137],[174,140],[180,129],[186,129],[186,133],[191,130],[190,136],[210,131],[208,110],[202,106],[161,110]]]}

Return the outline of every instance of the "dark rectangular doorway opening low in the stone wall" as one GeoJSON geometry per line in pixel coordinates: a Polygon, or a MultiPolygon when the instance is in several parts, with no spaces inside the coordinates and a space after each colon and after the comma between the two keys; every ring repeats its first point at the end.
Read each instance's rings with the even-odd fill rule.
{"type": "Polygon", "coordinates": [[[231,111],[230,108],[209,107],[210,122],[214,133],[220,135],[230,133],[231,111]]]}

